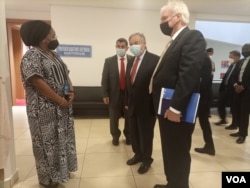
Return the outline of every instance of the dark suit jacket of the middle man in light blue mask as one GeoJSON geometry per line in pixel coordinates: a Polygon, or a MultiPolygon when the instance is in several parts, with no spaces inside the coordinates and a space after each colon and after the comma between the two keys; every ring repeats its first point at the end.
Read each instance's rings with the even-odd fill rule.
{"type": "Polygon", "coordinates": [[[148,86],[158,60],[159,56],[146,51],[133,85],[130,82],[133,63],[129,64],[126,72],[129,114],[136,112],[140,115],[154,115],[153,99],[148,86]]]}

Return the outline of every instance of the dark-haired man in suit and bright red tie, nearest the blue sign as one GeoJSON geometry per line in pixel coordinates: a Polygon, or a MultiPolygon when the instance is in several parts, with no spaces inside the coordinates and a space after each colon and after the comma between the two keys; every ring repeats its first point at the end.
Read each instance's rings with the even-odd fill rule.
{"type": "Polygon", "coordinates": [[[119,118],[124,117],[124,136],[126,144],[130,144],[130,131],[128,113],[125,109],[125,74],[126,66],[132,61],[132,56],[126,55],[128,42],[125,38],[116,41],[116,55],[105,59],[102,72],[103,102],[109,105],[110,133],[113,137],[112,144],[119,145],[121,131],[119,129],[119,118]]]}

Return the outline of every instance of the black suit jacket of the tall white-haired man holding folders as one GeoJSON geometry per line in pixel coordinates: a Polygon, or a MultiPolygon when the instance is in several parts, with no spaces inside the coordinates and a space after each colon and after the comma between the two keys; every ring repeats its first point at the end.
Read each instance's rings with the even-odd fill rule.
{"type": "Polygon", "coordinates": [[[181,112],[193,92],[199,92],[200,69],[205,52],[205,40],[197,30],[184,28],[171,43],[153,79],[153,100],[158,109],[162,87],[173,88],[170,106],[181,112]]]}

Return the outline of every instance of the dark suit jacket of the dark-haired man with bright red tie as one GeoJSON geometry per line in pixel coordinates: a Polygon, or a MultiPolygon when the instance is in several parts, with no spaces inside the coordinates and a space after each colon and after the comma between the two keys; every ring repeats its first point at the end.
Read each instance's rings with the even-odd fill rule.
{"type": "MultiPolygon", "coordinates": [[[[127,67],[133,56],[127,55],[127,67]]],[[[106,58],[102,72],[102,96],[109,97],[110,105],[117,105],[120,96],[120,75],[117,55],[106,58]]]]}

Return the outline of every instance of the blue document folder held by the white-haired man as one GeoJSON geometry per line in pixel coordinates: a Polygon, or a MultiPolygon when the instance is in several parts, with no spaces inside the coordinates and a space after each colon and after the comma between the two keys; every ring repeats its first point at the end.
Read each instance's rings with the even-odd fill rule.
{"type": "MultiPolygon", "coordinates": [[[[159,115],[165,114],[166,110],[170,106],[170,102],[173,97],[173,94],[174,94],[174,89],[169,89],[169,88],[161,89],[161,97],[160,97],[159,108],[158,108],[159,115]]],[[[186,110],[182,112],[182,116],[181,116],[182,121],[185,121],[188,123],[195,123],[199,101],[200,101],[200,94],[193,93],[186,110]]]]}

